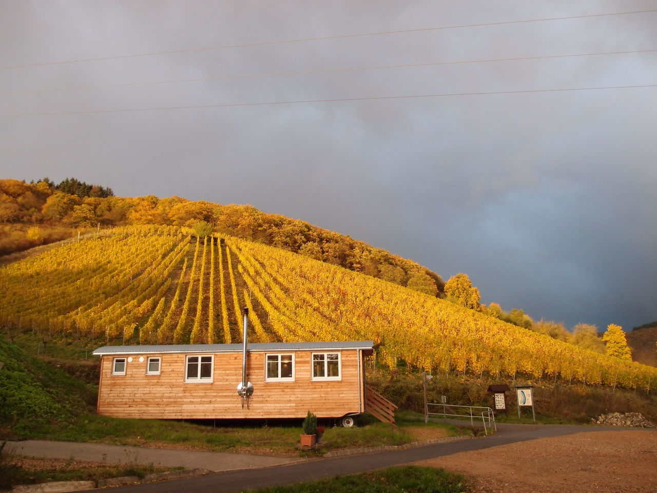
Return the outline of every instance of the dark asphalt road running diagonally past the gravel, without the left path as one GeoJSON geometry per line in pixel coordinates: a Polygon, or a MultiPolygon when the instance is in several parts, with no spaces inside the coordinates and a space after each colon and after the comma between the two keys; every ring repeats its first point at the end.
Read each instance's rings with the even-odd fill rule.
{"type": "MultiPolygon", "coordinates": [[[[615,430],[608,427],[585,427],[566,425],[497,425],[498,433],[476,440],[463,440],[434,444],[407,450],[346,456],[331,459],[316,459],[279,467],[263,467],[241,471],[227,471],[205,476],[173,481],[151,482],[134,486],[113,488],[113,493],[229,493],[251,488],[263,488],[279,484],[313,481],[344,475],[371,471],[403,463],[430,459],[440,456],[468,452],[513,442],[535,440],[551,436],[581,433],[586,431],[615,430]]],[[[625,428],[625,430],[627,430],[625,428]]],[[[640,433],[640,431],[637,431],[640,433]]]]}

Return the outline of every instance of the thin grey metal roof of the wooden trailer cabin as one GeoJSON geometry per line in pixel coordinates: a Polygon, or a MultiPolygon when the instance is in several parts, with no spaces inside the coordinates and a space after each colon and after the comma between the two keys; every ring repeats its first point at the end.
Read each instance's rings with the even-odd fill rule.
{"type": "MultiPolygon", "coordinates": [[[[254,342],[248,344],[249,351],[293,351],[293,350],[335,350],[335,349],[363,349],[372,350],[374,342],[371,340],[347,340],[339,342],[254,342]]],[[[95,350],[93,355],[105,354],[152,354],[152,353],[191,353],[191,352],[241,352],[242,344],[158,344],[156,346],[102,346],[95,350]]]]}

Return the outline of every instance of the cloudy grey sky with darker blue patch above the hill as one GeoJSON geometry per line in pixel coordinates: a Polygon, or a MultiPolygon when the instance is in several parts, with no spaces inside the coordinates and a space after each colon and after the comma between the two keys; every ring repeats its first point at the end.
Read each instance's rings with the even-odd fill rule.
{"type": "Polygon", "coordinates": [[[656,25],[654,0],[0,0],[0,177],[252,204],[631,329],[657,320],[656,25]]]}

